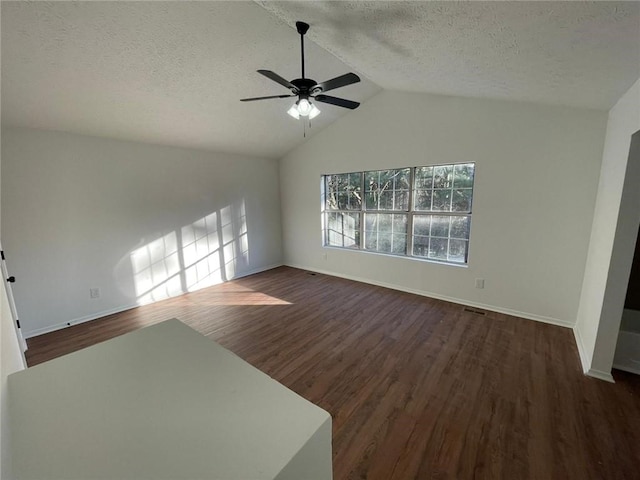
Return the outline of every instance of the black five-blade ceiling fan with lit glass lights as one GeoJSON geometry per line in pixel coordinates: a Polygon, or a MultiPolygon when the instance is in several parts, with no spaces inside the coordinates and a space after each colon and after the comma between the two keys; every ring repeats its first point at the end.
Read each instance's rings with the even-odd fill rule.
{"type": "Polygon", "coordinates": [[[334,90],[336,88],[346,87],[347,85],[351,85],[353,83],[358,83],[360,81],[360,77],[358,77],[355,73],[345,73],[344,75],[332,78],[331,80],[327,80],[322,83],[318,83],[310,78],[305,78],[304,35],[309,30],[309,24],[304,22],[296,22],[296,29],[300,34],[300,50],[302,52],[302,78],[296,78],[295,80],[288,81],[282,78],[277,73],[272,72],[271,70],[258,70],[258,73],[291,90],[291,94],[270,95],[268,97],[242,98],[240,101],[253,102],[255,100],[267,100],[271,98],[298,97],[296,103],[287,112],[295,119],[299,119],[300,117],[309,117],[309,119],[312,119],[320,114],[320,110],[313,103],[311,103],[311,99],[314,99],[317,102],[336,105],[338,107],[349,108],[351,110],[358,108],[358,106],[360,105],[360,103],[358,102],[346,100],[344,98],[331,97],[324,94],[324,92],[328,92],[329,90],[334,90]]]}

